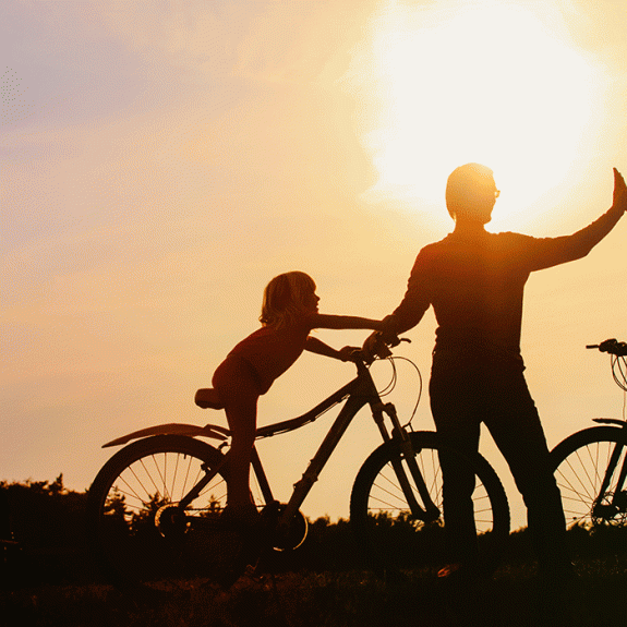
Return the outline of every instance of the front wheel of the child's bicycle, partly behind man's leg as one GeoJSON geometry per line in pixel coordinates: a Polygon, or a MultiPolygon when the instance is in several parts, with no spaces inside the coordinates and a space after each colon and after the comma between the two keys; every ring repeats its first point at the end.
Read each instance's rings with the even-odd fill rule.
{"type": "MultiPolygon", "coordinates": [[[[411,442],[433,503],[442,511],[438,450],[443,446],[439,437],[435,432],[414,432],[411,442]]],[[[409,505],[391,468],[391,459],[398,455],[397,445],[390,442],[379,446],[364,461],[352,489],[351,526],[367,565],[375,572],[388,575],[415,568],[437,571],[450,559],[444,521],[441,517],[425,524],[411,519],[409,505]]],[[[509,535],[509,504],[496,472],[481,455],[474,472],[480,568],[490,575],[496,569],[509,535]]],[[[415,487],[413,490],[420,502],[415,487]]]]}

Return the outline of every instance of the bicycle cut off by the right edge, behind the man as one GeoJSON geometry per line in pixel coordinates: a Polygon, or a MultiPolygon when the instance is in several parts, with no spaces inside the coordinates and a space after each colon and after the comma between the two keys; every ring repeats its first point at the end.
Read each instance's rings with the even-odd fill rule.
{"type": "MultiPolygon", "coordinates": [[[[627,343],[607,339],[586,348],[612,355],[614,381],[627,391],[627,343]]],[[[567,526],[623,527],[627,524],[627,422],[593,421],[602,426],[574,433],[551,451],[567,526]]]]}

